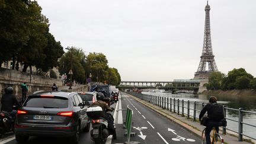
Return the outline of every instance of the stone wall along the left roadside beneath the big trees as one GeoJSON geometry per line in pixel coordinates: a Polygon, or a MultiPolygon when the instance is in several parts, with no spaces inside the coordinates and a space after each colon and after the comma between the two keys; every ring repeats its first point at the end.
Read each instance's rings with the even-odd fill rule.
{"type": "Polygon", "coordinates": [[[61,79],[53,79],[46,76],[33,75],[12,69],[0,68],[0,95],[4,94],[4,88],[13,87],[15,95],[21,95],[21,84],[27,83],[28,94],[39,90],[51,90],[53,83],[58,87],[62,85],[61,79]]]}

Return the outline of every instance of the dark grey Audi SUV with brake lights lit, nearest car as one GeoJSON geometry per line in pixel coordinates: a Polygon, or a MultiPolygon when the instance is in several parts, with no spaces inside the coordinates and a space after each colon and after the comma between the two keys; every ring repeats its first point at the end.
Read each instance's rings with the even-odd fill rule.
{"type": "Polygon", "coordinates": [[[29,136],[69,137],[78,143],[80,132],[89,132],[86,111],[77,92],[34,92],[17,111],[15,138],[24,143],[29,136]]]}

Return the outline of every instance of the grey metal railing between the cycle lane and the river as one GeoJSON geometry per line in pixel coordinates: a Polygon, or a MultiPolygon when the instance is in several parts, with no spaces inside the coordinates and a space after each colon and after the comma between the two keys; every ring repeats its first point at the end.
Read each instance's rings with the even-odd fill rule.
{"type": "MultiPolygon", "coordinates": [[[[199,103],[197,101],[184,101],[184,100],[180,100],[180,99],[176,99],[176,98],[139,94],[139,93],[135,93],[135,92],[128,92],[128,93],[137,98],[145,100],[148,103],[158,105],[159,107],[162,107],[163,109],[166,109],[169,111],[173,111],[174,113],[177,113],[178,115],[180,115],[180,113],[181,113],[181,116],[186,116],[187,119],[190,119],[190,117],[191,117],[193,119],[193,121],[196,121],[199,119],[199,113],[201,112],[201,109],[204,107],[204,105],[206,105],[204,103],[199,103]]],[[[243,121],[243,114],[244,113],[256,114],[255,112],[245,111],[245,110],[242,110],[242,108],[239,108],[239,109],[229,108],[229,107],[226,107],[225,105],[224,105],[223,109],[224,109],[224,115],[225,115],[226,120],[231,120],[231,121],[238,123],[238,131],[229,129],[228,127],[223,127],[222,132],[224,135],[226,134],[226,130],[230,130],[231,132],[238,134],[238,141],[242,141],[243,136],[247,136],[251,139],[256,140],[256,137],[251,137],[251,136],[245,135],[243,133],[244,125],[256,127],[253,124],[245,123],[245,121],[243,121]],[[226,117],[227,110],[238,111],[238,120],[229,119],[228,117],[226,117]]]]}

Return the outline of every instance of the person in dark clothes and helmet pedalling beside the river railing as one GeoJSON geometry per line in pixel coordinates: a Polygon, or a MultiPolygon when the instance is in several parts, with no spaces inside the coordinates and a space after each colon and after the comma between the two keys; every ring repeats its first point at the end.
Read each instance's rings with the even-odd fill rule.
{"type": "MultiPolygon", "coordinates": [[[[199,114],[199,120],[204,116],[207,111],[207,116],[209,117],[208,123],[206,125],[206,143],[210,144],[210,132],[212,131],[213,127],[217,133],[219,133],[219,126],[220,126],[220,119],[217,117],[211,117],[216,112],[215,107],[212,105],[217,105],[217,98],[212,96],[209,99],[209,104],[204,106],[203,110],[199,114]]],[[[223,118],[222,118],[223,119],[223,118]]]]}

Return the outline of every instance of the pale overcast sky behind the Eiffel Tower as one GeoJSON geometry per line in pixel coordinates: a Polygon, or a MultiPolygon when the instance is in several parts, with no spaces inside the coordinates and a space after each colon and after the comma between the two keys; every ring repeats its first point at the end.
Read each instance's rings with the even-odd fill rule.
{"type": "MultiPolygon", "coordinates": [[[[107,56],[123,81],[190,79],[203,49],[205,0],[39,0],[63,47],[107,56]]],[[[210,0],[219,71],[256,76],[254,0],[210,0]]],[[[92,73],[93,74],[93,73],[92,73]]]]}

